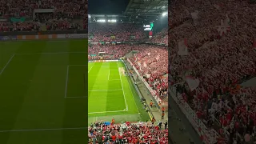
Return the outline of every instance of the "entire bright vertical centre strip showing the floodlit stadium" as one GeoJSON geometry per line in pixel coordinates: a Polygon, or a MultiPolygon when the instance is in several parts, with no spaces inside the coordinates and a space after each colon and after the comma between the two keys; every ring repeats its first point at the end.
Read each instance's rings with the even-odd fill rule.
{"type": "Polygon", "coordinates": [[[89,1],[90,143],[168,143],[167,8],[89,1]]]}

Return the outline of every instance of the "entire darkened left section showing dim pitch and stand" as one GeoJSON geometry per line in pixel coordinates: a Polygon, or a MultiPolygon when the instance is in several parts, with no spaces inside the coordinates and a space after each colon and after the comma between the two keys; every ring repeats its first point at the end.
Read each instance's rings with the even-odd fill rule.
{"type": "Polygon", "coordinates": [[[0,0],[1,144],[87,142],[86,5],[0,0]]]}

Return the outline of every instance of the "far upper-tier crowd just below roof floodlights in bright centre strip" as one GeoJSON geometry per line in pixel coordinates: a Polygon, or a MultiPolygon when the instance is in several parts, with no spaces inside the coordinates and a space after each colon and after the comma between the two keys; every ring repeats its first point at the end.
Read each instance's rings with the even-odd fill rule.
{"type": "Polygon", "coordinates": [[[90,42],[138,42],[146,38],[142,25],[130,23],[90,23],[90,42]]]}

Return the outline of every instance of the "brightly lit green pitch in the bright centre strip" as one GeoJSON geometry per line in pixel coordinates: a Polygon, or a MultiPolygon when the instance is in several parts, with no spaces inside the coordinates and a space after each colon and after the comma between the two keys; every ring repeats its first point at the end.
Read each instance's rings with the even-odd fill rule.
{"type": "Polygon", "coordinates": [[[88,122],[149,120],[122,62],[89,62],[88,122]]]}

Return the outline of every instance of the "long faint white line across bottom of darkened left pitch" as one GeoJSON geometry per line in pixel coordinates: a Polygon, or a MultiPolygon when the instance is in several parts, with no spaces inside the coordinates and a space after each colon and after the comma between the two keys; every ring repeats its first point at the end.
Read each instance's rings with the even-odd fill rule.
{"type": "Polygon", "coordinates": [[[0,133],[8,132],[24,132],[24,131],[49,131],[49,130],[86,130],[87,127],[74,127],[74,128],[58,128],[58,129],[24,129],[24,130],[0,130],[0,133]]]}

